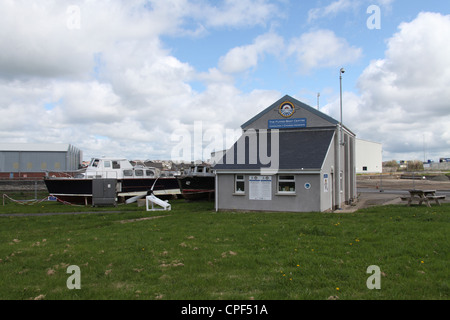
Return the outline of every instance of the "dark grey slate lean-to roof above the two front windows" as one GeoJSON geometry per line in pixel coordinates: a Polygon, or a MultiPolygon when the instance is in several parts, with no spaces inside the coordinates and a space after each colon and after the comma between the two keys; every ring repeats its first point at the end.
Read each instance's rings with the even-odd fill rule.
{"type": "MultiPolygon", "coordinates": [[[[231,163],[227,163],[226,155],[214,166],[215,170],[255,170],[270,168],[278,160],[279,170],[308,170],[321,169],[327,151],[333,139],[335,130],[300,130],[300,131],[279,131],[279,157],[272,155],[272,132],[251,131],[244,134],[230,150],[234,150],[234,157],[231,163]],[[262,152],[262,156],[272,158],[272,163],[264,164],[259,156],[259,145],[261,134],[267,134],[267,152],[262,152]],[[256,146],[250,146],[251,138],[248,135],[257,136],[256,146]],[[238,145],[245,146],[245,157],[238,154],[238,145]],[[256,161],[251,161],[250,153],[257,152],[256,161]],[[266,153],[266,154],[264,154],[266,153]],[[256,162],[256,163],[255,163],[256,162]]],[[[230,152],[230,151],[228,151],[230,152]]],[[[254,154],[253,154],[254,155],[254,154]]]]}

